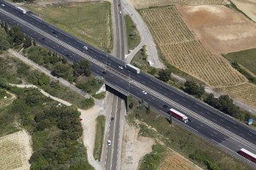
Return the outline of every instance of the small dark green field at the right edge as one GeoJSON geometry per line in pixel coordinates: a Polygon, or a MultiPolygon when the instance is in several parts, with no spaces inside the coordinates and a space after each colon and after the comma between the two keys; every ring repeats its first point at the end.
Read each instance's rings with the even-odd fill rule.
{"type": "Polygon", "coordinates": [[[256,48],[224,54],[224,57],[231,63],[236,61],[256,75],[256,48]]]}

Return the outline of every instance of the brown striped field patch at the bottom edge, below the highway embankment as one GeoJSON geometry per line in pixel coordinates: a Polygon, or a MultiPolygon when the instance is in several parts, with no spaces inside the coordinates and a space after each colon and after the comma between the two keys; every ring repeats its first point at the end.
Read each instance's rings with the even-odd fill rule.
{"type": "Polygon", "coordinates": [[[179,155],[177,152],[172,151],[166,159],[161,162],[158,170],[200,170],[201,167],[198,167],[188,159],[179,155]]]}

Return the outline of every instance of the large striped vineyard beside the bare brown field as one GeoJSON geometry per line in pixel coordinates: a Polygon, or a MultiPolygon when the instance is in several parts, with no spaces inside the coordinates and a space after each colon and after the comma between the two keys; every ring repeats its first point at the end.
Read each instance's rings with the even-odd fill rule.
{"type": "Polygon", "coordinates": [[[172,65],[213,87],[247,82],[225,59],[203,47],[183,22],[177,8],[151,8],[140,12],[162,54],[172,65]]]}

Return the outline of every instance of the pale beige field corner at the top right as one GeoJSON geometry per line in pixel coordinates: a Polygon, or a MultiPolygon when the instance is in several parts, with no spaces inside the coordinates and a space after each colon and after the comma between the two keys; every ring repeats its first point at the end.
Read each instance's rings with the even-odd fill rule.
{"type": "Polygon", "coordinates": [[[231,0],[244,14],[247,14],[256,22],[256,1],[255,0],[231,0]]]}

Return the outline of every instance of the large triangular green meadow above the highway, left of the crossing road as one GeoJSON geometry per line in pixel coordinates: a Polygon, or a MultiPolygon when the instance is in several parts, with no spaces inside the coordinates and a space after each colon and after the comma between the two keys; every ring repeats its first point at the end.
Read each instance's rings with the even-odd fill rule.
{"type": "Polygon", "coordinates": [[[27,4],[44,20],[90,43],[96,48],[111,52],[111,5],[108,2],[65,3],[38,6],[27,4]]]}

